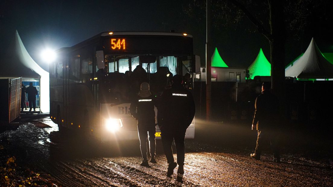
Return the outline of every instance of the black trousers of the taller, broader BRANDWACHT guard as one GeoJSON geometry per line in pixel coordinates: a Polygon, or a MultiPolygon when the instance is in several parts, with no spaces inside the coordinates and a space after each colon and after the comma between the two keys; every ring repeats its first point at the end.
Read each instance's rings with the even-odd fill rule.
{"type": "Polygon", "coordinates": [[[186,129],[164,129],[161,131],[161,138],[164,153],[168,163],[174,162],[172,153],[172,141],[176,145],[177,164],[184,165],[185,160],[185,132],[186,129]]]}

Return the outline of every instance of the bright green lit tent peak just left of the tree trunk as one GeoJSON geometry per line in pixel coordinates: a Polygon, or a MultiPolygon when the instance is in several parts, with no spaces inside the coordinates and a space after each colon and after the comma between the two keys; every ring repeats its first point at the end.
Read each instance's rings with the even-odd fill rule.
{"type": "Polygon", "coordinates": [[[249,70],[251,79],[253,79],[255,76],[271,76],[271,65],[266,59],[261,48],[257,58],[247,68],[247,70],[249,70]]]}

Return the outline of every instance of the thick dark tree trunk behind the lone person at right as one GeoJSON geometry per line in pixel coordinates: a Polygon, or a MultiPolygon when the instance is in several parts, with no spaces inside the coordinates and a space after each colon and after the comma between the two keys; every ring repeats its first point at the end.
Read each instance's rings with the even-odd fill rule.
{"type": "Polygon", "coordinates": [[[269,1],[270,8],[270,61],[272,76],[272,93],[278,96],[281,115],[285,116],[285,24],[283,1],[269,1]]]}

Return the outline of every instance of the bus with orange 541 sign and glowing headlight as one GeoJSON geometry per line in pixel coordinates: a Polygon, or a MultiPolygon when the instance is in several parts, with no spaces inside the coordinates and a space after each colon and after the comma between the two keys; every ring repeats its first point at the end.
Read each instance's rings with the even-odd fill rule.
{"type": "MultiPolygon", "coordinates": [[[[183,75],[192,90],[200,71],[192,36],[185,33],[102,32],[56,55],[49,69],[52,121],[60,131],[82,131],[102,142],[138,139],[129,107],[142,82],[158,99],[173,75],[183,75]]],[[[194,138],[194,130],[193,120],[186,138],[194,138]]]]}

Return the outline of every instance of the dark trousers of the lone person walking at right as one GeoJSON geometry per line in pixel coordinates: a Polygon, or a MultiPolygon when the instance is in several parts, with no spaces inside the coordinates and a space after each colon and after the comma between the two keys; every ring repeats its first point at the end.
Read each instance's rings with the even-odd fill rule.
{"type": "Polygon", "coordinates": [[[274,158],[280,158],[278,136],[267,131],[258,130],[257,145],[255,147],[255,154],[260,156],[263,147],[270,145],[274,158]]]}

